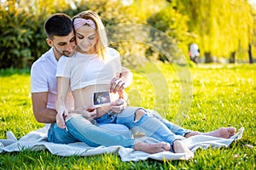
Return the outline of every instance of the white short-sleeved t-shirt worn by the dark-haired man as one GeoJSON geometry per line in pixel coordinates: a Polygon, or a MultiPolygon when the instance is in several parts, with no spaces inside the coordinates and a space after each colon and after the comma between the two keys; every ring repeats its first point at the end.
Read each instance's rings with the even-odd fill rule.
{"type": "MultiPolygon", "coordinates": [[[[47,108],[55,109],[57,98],[57,78],[55,77],[58,62],[53,48],[50,48],[32,65],[31,93],[48,92],[47,108]]],[[[73,111],[73,95],[67,94],[67,110],[73,111]]],[[[48,125],[47,125],[48,126],[48,125]]]]}

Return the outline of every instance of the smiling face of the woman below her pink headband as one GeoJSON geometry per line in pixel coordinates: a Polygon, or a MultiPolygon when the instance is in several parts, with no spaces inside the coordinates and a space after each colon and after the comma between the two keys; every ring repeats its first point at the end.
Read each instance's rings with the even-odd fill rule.
{"type": "Polygon", "coordinates": [[[84,54],[95,54],[96,53],[96,42],[97,34],[96,30],[92,27],[85,25],[81,26],[76,31],[76,41],[81,52],[84,54]]]}

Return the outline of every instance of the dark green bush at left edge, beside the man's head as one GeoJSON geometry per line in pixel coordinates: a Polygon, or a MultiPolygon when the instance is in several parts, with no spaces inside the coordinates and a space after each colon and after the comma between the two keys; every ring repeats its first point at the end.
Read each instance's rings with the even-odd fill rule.
{"type": "Polygon", "coordinates": [[[47,44],[44,40],[43,15],[17,9],[0,8],[0,68],[25,68],[32,64],[47,44]]]}

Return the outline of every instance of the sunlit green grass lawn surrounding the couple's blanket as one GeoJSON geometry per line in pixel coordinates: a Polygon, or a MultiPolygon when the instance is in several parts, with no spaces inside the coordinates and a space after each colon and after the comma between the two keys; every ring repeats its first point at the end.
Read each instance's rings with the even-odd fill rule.
{"type": "MultiPolygon", "coordinates": [[[[131,105],[155,109],[176,122],[181,83],[172,65],[156,67],[156,75],[151,67],[134,71],[134,83],[127,90],[131,105]],[[158,81],[160,77],[166,82],[158,81]]],[[[190,161],[138,162],[122,162],[116,154],[62,157],[47,150],[22,150],[0,154],[0,169],[255,169],[256,65],[198,65],[190,74],[193,98],[182,126],[201,132],[245,127],[243,138],[229,148],[197,150],[190,161]]],[[[29,71],[0,71],[0,82],[0,139],[6,139],[7,131],[20,139],[43,127],[32,114],[29,71]]]]}

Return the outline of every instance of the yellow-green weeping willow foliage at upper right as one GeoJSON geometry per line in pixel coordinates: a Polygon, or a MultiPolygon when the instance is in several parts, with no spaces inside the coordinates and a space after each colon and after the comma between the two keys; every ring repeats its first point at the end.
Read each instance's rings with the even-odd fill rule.
{"type": "Polygon", "coordinates": [[[251,42],[253,20],[246,0],[177,0],[177,8],[189,16],[189,31],[205,54],[229,58],[236,51],[247,49],[251,42]],[[241,17],[243,16],[243,17],[241,17]]]}

